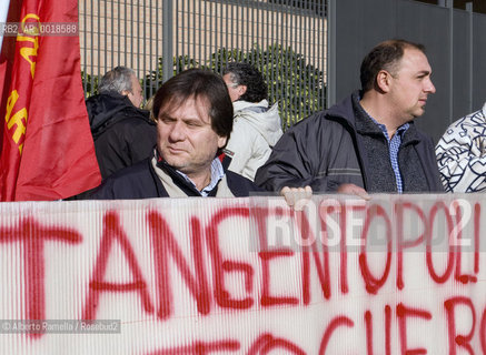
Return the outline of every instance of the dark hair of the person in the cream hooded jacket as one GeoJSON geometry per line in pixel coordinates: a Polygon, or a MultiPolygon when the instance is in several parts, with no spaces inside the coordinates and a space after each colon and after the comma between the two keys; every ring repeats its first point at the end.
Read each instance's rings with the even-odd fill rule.
{"type": "Polygon", "coordinates": [[[264,77],[252,65],[231,62],[225,68],[222,74],[229,74],[235,84],[247,87],[247,91],[241,95],[240,100],[260,102],[268,98],[268,87],[265,83],[264,77]]]}

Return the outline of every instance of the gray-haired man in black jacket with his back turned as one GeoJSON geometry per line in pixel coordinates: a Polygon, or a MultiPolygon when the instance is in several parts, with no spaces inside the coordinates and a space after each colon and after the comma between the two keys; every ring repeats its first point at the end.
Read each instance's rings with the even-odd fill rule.
{"type": "Polygon", "coordinates": [[[157,142],[157,126],[143,101],[133,70],[117,67],[108,71],[99,94],[86,101],[91,134],[102,179],[146,158],[157,142]]]}

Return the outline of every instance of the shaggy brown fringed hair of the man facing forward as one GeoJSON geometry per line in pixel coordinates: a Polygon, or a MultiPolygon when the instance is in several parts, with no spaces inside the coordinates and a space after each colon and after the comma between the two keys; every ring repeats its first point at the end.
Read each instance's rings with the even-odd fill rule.
{"type": "Polygon", "coordinates": [[[229,140],[234,113],[231,99],[222,78],[209,70],[188,69],[166,81],[153,99],[155,119],[158,120],[161,109],[177,106],[189,98],[207,100],[212,130],[229,140]]]}

